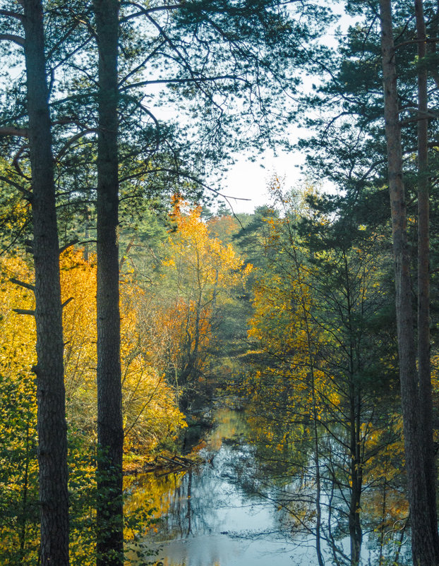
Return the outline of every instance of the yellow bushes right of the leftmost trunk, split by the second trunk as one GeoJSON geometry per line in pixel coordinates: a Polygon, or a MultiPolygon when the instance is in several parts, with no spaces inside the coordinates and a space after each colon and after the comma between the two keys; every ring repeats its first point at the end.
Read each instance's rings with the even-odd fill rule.
{"type": "MultiPolygon", "coordinates": [[[[61,256],[66,342],[66,391],[70,418],[94,433],[96,420],[96,265],[81,251],[61,256]]],[[[131,281],[121,284],[121,369],[125,450],[153,450],[184,426],[176,397],[157,369],[148,362],[138,324],[142,291],[131,281]]]]}

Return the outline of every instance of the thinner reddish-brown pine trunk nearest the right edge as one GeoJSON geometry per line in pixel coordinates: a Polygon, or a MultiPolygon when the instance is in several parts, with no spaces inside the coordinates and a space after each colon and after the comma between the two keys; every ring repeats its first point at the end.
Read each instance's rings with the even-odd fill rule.
{"type": "Polygon", "coordinates": [[[430,213],[428,179],[428,90],[425,57],[426,24],[422,0],[414,1],[418,40],[418,375],[419,420],[423,431],[424,466],[436,555],[439,557],[436,470],[433,447],[433,399],[430,367],[430,213]]]}

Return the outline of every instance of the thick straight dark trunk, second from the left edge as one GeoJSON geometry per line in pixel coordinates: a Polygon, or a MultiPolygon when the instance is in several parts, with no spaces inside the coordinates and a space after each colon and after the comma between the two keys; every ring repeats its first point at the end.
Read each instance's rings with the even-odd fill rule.
{"type": "Polygon", "coordinates": [[[119,1],[94,0],[99,52],[97,147],[97,565],[124,563],[119,313],[119,1]]]}

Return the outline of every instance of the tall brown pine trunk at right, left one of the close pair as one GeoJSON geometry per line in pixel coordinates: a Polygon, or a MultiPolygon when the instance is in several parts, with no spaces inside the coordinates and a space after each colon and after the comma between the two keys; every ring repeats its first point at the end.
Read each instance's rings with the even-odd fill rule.
{"type": "Polygon", "coordinates": [[[402,175],[401,126],[397,102],[397,74],[393,43],[390,0],[380,0],[381,47],[383,53],[383,90],[385,136],[389,171],[390,209],[392,214],[399,378],[401,381],[404,449],[411,517],[411,547],[416,566],[437,566],[435,549],[437,525],[431,524],[431,505],[424,467],[423,433],[419,421],[419,387],[416,373],[413,315],[407,246],[407,220],[402,175]]]}

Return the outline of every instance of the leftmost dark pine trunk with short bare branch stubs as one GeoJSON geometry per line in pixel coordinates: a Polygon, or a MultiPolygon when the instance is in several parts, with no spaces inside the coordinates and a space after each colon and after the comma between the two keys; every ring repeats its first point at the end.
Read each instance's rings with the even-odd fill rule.
{"type": "Polygon", "coordinates": [[[68,565],[68,491],[64,342],[52,133],[41,0],[24,0],[25,65],[32,169],[37,430],[41,565],[68,565]]]}

